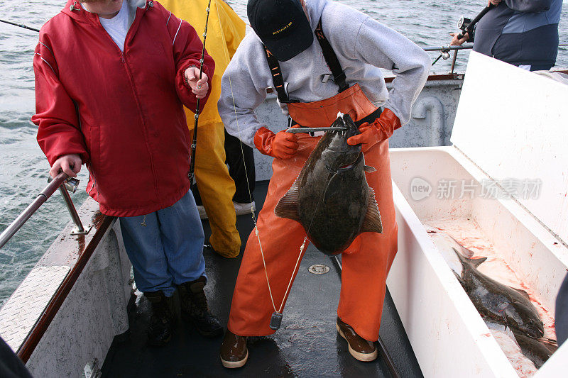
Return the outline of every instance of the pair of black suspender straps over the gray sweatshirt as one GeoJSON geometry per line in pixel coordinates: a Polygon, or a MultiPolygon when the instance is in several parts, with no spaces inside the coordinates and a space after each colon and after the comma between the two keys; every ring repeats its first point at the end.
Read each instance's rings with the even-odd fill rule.
{"type": "MultiPolygon", "coordinates": [[[[315,28],[315,36],[317,38],[317,42],[320,43],[320,47],[322,48],[325,62],[327,63],[329,70],[332,71],[334,82],[335,84],[339,85],[338,92],[344,91],[345,89],[349,88],[349,84],[347,84],[345,81],[345,72],[343,72],[342,66],[339,64],[339,60],[337,59],[337,55],[335,55],[332,45],[330,45],[327,38],[325,38],[324,32],[322,30],[321,19],[320,22],[317,23],[317,28],[315,28]]],[[[266,61],[268,62],[268,67],[270,67],[271,69],[274,89],[276,90],[276,94],[278,94],[278,101],[280,101],[280,103],[282,104],[298,102],[297,100],[290,100],[290,97],[288,97],[288,94],[284,89],[284,79],[282,78],[282,71],[280,70],[278,59],[276,59],[276,57],[272,55],[270,51],[268,51],[265,45],[263,45],[263,47],[264,51],[266,52],[266,61]]]]}

